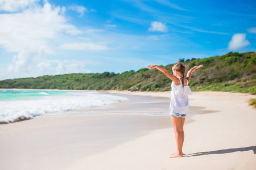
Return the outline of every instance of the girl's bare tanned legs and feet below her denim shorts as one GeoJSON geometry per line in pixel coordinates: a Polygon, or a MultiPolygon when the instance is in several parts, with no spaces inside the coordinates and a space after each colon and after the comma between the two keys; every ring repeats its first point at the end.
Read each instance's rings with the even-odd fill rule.
{"type": "Polygon", "coordinates": [[[185,118],[172,116],[172,125],[174,126],[177,151],[172,153],[170,155],[170,158],[183,157],[182,145],[184,141],[184,132],[183,132],[184,120],[185,118]],[[181,119],[183,120],[181,121],[181,119]],[[182,128],[181,128],[181,123],[182,123],[182,128]]]}

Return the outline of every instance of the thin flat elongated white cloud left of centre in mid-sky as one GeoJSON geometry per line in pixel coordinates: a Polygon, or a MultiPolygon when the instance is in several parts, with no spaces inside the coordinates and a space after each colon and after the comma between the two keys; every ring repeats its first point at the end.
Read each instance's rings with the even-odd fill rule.
{"type": "Polygon", "coordinates": [[[106,50],[108,47],[103,44],[94,44],[93,42],[74,42],[59,46],[64,50],[106,50]]]}

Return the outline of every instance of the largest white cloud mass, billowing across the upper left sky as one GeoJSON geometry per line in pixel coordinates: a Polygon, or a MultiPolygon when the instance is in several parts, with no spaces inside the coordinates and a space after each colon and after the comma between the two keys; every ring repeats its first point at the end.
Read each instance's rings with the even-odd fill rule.
{"type": "MultiPolygon", "coordinates": [[[[67,18],[61,15],[61,12],[65,11],[64,8],[52,7],[47,1],[44,1],[43,6],[35,3],[36,1],[26,2],[29,2],[26,3],[27,8],[20,12],[0,14],[0,23],[3,25],[0,27],[0,46],[7,52],[18,53],[5,71],[6,74],[13,76],[11,78],[47,73],[43,68],[50,66],[43,62],[54,52],[52,40],[64,34],[81,33],[74,25],[68,24],[67,18]]],[[[9,11],[21,7],[13,7],[13,10],[9,8],[9,11]]]]}

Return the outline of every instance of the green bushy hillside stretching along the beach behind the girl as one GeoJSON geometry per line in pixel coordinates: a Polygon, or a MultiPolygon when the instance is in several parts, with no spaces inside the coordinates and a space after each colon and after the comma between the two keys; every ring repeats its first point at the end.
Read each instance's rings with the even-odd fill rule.
{"type": "MultiPolygon", "coordinates": [[[[187,66],[186,71],[193,66],[204,65],[192,74],[189,86],[193,91],[233,91],[256,94],[255,52],[231,52],[224,56],[192,58],[184,63],[187,66]]],[[[172,71],[172,65],[165,67],[172,71]]],[[[121,74],[105,72],[7,79],[0,81],[0,88],[168,91],[171,90],[171,80],[156,69],[141,69],[125,71],[121,74]]]]}

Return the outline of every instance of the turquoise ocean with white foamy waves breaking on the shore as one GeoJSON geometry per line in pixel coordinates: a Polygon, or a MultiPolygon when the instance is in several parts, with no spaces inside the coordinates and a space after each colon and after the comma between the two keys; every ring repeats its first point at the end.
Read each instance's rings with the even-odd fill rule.
{"type": "Polygon", "coordinates": [[[0,90],[0,124],[128,100],[98,91],[0,90]]]}

